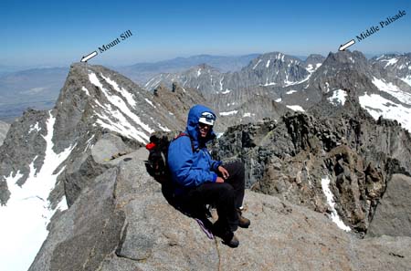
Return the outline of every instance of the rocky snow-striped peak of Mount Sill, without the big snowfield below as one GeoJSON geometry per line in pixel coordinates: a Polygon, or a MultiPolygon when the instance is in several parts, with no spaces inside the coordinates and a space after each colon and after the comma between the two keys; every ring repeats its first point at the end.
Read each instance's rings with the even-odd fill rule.
{"type": "Polygon", "coordinates": [[[52,202],[56,203],[66,194],[68,203],[72,203],[90,176],[74,178],[69,174],[70,166],[65,167],[67,161],[76,161],[78,163],[73,164],[77,166],[83,162],[93,163],[86,158],[96,141],[108,131],[125,138],[128,145],[135,148],[148,142],[154,130],[183,130],[185,112],[181,109],[205,101],[190,89],[175,88],[168,92],[164,94],[160,90],[154,95],[107,68],[72,65],[54,109],[29,109],[11,125],[10,136],[0,147],[0,202],[5,204],[10,196],[5,178],[17,178],[19,185],[27,178],[35,179],[47,159],[47,146],[52,146],[50,153],[54,155],[68,151],[68,156],[61,157],[58,167],[53,169],[65,171],[59,174],[52,202]],[[166,99],[158,99],[159,95],[167,95],[168,103],[166,99]],[[47,135],[50,138],[45,141],[47,135]],[[68,183],[67,178],[78,182],[68,183]]]}

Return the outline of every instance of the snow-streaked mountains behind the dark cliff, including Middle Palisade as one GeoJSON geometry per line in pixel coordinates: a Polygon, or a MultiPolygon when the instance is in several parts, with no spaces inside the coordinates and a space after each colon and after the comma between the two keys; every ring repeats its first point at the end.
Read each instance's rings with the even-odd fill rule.
{"type": "MultiPolygon", "coordinates": [[[[304,61],[274,52],[253,59],[247,67],[234,73],[220,73],[216,68],[200,65],[184,72],[161,74],[144,85],[155,89],[159,85],[198,89],[212,101],[221,117],[230,124],[233,120],[254,118],[257,111],[240,110],[256,95],[281,103],[288,109],[304,111],[315,107],[322,97],[332,105],[343,106],[346,91],[354,96],[364,109],[378,119],[398,120],[411,130],[411,77],[410,55],[375,57],[368,60],[361,52],[330,53],[324,58],[311,55],[304,61]],[[245,118],[243,116],[246,116],[245,118]]],[[[255,109],[258,110],[258,109],[255,109]]]]}

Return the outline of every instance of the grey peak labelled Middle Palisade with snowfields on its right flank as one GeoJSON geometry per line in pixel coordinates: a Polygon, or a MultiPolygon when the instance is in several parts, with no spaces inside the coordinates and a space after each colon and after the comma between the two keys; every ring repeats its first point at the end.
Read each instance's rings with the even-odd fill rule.
{"type": "Polygon", "coordinates": [[[282,89],[271,87],[269,92],[277,93],[276,100],[291,109],[307,110],[322,98],[335,107],[343,106],[349,91],[375,120],[383,116],[411,130],[410,86],[373,61],[358,51],[330,53],[308,80],[282,89]]]}

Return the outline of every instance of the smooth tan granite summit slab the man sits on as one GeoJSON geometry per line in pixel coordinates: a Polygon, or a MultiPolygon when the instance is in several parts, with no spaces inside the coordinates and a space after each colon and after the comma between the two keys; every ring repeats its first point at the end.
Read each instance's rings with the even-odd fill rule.
{"type": "Polygon", "coordinates": [[[236,249],[209,240],[163,198],[145,150],[111,161],[49,225],[30,266],[41,270],[407,270],[410,237],[360,240],[322,214],[247,191],[252,224],[236,249]],[[136,178],[138,176],[138,178],[136,178]],[[378,260],[375,260],[375,257],[378,260]]]}

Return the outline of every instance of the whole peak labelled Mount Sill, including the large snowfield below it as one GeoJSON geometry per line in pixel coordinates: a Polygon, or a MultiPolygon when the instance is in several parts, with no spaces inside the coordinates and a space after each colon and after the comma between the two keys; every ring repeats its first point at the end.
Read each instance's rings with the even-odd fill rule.
{"type": "MultiPolygon", "coordinates": [[[[155,130],[183,130],[186,109],[205,103],[190,89],[167,92],[154,95],[107,68],[74,64],[54,109],[27,110],[11,125],[0,146],[0,239],[6,259],[1,270],[26,270],[47,236],[50,217],[74,203],[99,174],[94,168],[72,182],[76,164],[95,164],[88,157],[100,138],[117,135],[136,148],[155,130]]],[[[110,160],[116,148],[101,159],[110,160]]]]}

